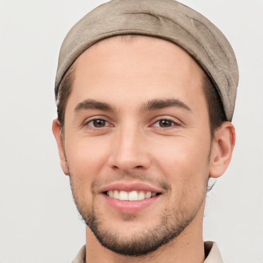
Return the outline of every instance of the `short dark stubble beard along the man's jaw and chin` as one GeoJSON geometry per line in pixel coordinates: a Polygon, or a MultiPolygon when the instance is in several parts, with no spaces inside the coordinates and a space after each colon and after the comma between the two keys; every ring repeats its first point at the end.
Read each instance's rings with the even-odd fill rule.
{"type": "MultiPolygon", "coordinates": [[[[83,195],[80,187],[76,185],[74,175],[70,172],[69,178],[73,199],[77,209],[86,223],[86,226],[90,228],[101,245],[117,254],[133,257],[147,255],[177,238],[195,218],[204,202],[208,184],[207,179],[204,182],[206,185],[203,187],[202,197],[197,206],[198,209],[195,211],[192,211],[191,208],[185,209],[183,199],[186,193],[184,193],[177,209],[173,209],[172,213],[171,211],[166,211],[167,213],[161,216],[155,227],[143,230],[140,233],[136,231],[136,233],[127,237],[121,232],[118,232],[118,229],[110,229],[107,218],[100,214],[98,206],[95,205],[94,198],[92,198],[91,204],[87,204],[87,202],[83,201],[83,199],[81,199],[83,195]]],[[[125,214],[122,220],[129,221],[132,217],[132,214],[125,214]]]]}

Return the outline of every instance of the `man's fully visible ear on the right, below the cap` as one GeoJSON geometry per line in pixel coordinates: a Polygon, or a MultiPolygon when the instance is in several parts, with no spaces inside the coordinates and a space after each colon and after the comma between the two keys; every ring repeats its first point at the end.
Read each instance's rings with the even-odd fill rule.
{"type": "Polygon", "coordinates": [[[210,177],[218,178],[227,170],[235,141],[234,125],[231,122],[223,122],[214,135],[209,169],[210,177]]]}

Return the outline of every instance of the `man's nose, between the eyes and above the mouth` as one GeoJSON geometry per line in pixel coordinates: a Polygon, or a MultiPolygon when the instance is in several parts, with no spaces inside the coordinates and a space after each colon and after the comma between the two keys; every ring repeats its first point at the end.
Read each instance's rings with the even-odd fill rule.
{"type": "Polygon", "coordinates": [[[145,171],[151,165],[145,135],[139,129],[122,129],[112,140],[108,164],[119,172],[145,171]]]}

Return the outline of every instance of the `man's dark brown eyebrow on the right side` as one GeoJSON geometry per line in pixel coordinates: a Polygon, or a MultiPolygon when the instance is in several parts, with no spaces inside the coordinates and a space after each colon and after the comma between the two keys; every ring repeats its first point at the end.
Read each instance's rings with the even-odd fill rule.
{"type": "Polygon", "coordinates": [[[149,111],[149,110],[155,110],[155,109],[163,109],[163,108],[169,108],[169,107],[176,107],[176,108],[182,108],[187,111],[192,111],[189,106],[187,106],[184,102],[178,99],[156,99],[148,101],[147,103],[144,103],[141,106],[141,111],[149,111]]]}

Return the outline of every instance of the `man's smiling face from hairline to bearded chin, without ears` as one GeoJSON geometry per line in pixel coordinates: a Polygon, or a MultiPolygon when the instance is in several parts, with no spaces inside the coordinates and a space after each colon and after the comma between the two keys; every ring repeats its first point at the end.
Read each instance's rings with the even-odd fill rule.
{"type": "Polygon", "coordinates": [[[183,49],[151,37],[102,41],[78,58],[62,166],[106,248],[146,254],[202,221],[211,152],[202,78],[183,49]]]}

